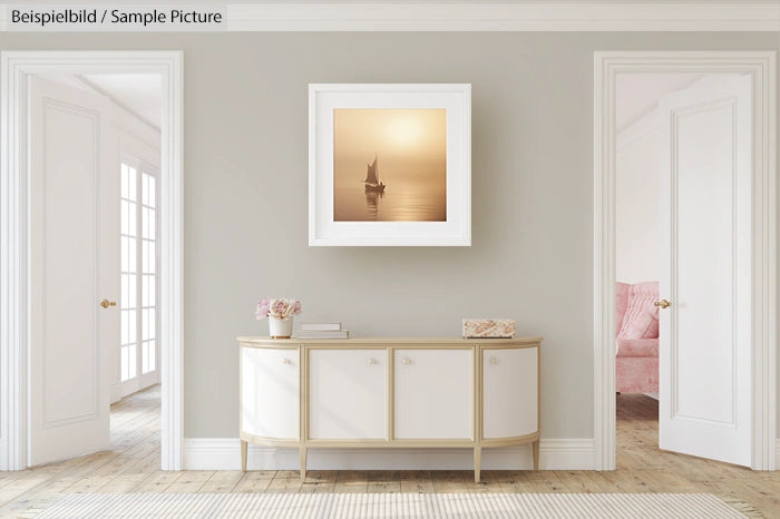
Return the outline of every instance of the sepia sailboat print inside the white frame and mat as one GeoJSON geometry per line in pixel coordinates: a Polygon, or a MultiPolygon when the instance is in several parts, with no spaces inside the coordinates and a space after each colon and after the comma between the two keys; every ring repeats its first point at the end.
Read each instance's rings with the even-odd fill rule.
{"type": "Polygon", "coordinates": [[[447,110],[333,110],[334,222],[446,222],[447,110]]]}

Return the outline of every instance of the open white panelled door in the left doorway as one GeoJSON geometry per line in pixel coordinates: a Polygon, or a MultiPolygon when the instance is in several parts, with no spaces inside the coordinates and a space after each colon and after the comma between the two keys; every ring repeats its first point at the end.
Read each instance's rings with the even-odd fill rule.
{"type": "Polygon", "coordinates": [[[108,347],[119,336],[118,172],[104,98],[31,79],[31,466],[109,444],[108,347]]]}

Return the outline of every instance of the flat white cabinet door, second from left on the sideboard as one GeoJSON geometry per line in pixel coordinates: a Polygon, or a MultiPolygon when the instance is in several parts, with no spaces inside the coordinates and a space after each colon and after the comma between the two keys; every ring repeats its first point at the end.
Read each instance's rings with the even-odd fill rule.
{"type": "Polygon", "coordinates": [[[383,440],[386,402],[386,351],[310,350],[310,438],[383,440]]]}

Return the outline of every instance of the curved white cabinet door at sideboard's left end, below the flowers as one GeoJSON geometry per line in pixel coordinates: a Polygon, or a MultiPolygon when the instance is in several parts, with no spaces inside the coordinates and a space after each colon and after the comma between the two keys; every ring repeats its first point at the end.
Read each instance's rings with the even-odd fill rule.
{"type": "Polygon", "coordinates": [[[298,350],[241,347],[241,430],[299,438],[298,350]]]}

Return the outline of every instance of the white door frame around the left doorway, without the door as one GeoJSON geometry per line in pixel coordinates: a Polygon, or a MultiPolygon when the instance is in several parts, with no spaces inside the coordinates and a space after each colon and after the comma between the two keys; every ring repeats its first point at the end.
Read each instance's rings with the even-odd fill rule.
{"type": "Polygon", "coordinates": [[[0,470],[29,464],[29,77],[111,72],[162,78],[162,469],[182,469],[183,61],[182,51],[170,50],[0,52],[0,470]]]}

